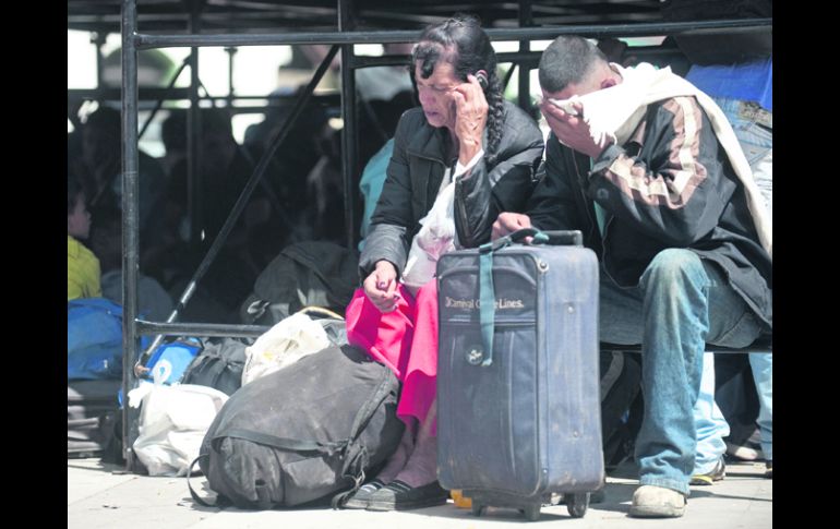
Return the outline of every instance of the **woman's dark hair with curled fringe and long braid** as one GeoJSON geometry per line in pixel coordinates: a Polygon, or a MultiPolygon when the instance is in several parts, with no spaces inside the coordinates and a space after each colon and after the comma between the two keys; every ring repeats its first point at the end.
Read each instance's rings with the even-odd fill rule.
{"type": "Polygon", "coordinates": [[[475,75],[479,70],[488,73],[488,87],[484,91],[489,106],[487,155],[492,163],[495,159],[499,142],[502,140],[504,121],[502,82],[496,74],[495,50],[477,17],[456,14],[452,19],[423,29],[411,55],[410,77],[415,89],[417,89],[416,65],[419,63],[421,75],[423,79],[429,79],[439,60],[452,64],[455,76],[464,82],[467,81],[468,74],[475,75]]]}

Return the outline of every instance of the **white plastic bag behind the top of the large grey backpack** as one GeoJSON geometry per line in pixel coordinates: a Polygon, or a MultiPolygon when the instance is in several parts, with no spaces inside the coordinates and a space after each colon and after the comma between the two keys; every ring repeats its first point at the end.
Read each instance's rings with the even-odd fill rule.
{"type": "Polygon", "coordinates": [[[329,347],[324,327],[303,313],[284,318],[245,348],[242,385],[329,347]]]}

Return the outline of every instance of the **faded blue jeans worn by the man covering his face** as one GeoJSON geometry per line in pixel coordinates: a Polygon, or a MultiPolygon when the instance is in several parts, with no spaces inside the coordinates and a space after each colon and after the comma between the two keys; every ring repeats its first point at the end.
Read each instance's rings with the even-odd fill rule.
{"type": "Polygon", "coordinates": [[[687,495],[706,342],[745,347],[760,325],[717,265],[681,249],[657,254],[637,287],[619,287],[602,272],[599,318],[601,340],[641,344],[639,482],[687,495]]]}

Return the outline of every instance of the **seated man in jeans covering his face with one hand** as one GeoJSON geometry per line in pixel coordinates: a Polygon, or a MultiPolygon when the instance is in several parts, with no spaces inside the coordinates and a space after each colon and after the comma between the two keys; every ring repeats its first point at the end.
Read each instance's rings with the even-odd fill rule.
{"type": "Polygon", "coordinates": [[[772,328],[771,226],[725,118],[684,80],[622,69],[567,36],[545,49],[539,75],[545,175],[527,215],[501,214],[493,237],[583,231],[601,263],[601,339],[643,349],[629,515],[682,516],[705,345],[745,347],[772,328]]]}

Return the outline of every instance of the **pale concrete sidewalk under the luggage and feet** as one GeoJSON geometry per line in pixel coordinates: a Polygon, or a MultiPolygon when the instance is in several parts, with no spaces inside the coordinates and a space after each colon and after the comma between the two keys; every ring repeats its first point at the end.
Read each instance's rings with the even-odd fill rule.
{"type": "MultiPolygon", "coordinates": [[[[735,529],[772,527],[772,480],[764,464],[728,464],[727,478],[711,486],[694,486],[685,516],[675,519],[629,518],[638,481],[633,464],[607,479],[607,500],[590,505],[584,518],[572,518],[565,505],[543,507],[536,527],[735,529]]],[[[200,494],[204,477],[192,478],[200,494]]],[[[250,512],[202,507],[190,497],[184,478],[123,473],[98,458],[68,459],[68,529],[475,529],[528,527],[519,512],[490,508],[482,517],[447,505],[404,513],[332,510],[328,507],[250,512]]]]}

